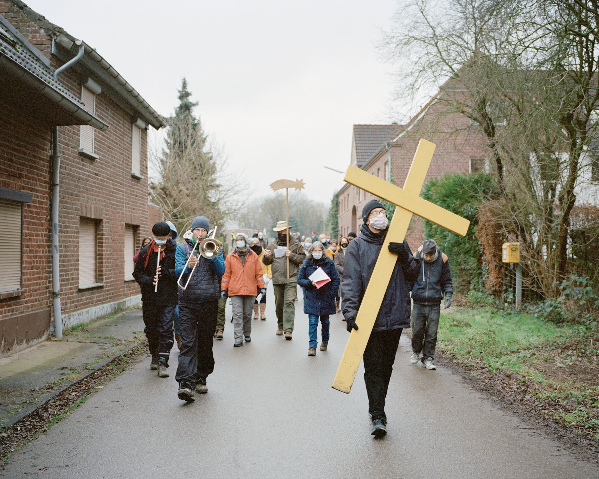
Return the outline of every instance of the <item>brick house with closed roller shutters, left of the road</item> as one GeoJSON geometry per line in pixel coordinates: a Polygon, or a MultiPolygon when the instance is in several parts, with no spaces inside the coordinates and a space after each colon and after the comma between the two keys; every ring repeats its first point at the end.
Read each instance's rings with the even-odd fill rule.
{"type": "Polygon", "coordinates": [[[166,123],[96,50],[19,0],[0,0],[0,78],[3,355],[46,338],[56,314],[68,328],[137,304],[132,256],[162,219],[148,204],[147,128],[166,123]]]}

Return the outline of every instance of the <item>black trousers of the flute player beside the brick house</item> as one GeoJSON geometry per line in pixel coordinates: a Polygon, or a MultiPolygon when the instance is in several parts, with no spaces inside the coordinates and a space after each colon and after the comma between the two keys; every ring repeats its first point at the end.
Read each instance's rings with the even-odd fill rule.
{"type": "Polygon", "coordinates": [[[173,348],[173,322],[175,320],[174,305],[156,304],[144,301],[141,314],[144,317],[144,333],[148,339],[150,354],[162,360],[168,366],[168,357],[173,348]]]}

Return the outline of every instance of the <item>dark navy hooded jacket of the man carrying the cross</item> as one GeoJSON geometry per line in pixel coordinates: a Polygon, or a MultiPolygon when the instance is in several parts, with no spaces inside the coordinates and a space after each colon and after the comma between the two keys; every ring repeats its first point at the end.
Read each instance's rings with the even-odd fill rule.
{"type": "MultiPolygon", "coordinates": [[[[343,291],[343,316],[346,319],[355,319],[358,314],[374,264],[387,235],[387,230],[374,234],[367,225],[362,225],[360,232],[361,234],[352,239],[345,250],[341,290],[343,291]]],[[[395,261],[395,268],[380,305],[373,331],[409,328],[412,302],[408,281],[416,280],[419,266],[419,261],[415,260],[411,253],[405,265],[400,265],[399,259],[395,261]]]]}

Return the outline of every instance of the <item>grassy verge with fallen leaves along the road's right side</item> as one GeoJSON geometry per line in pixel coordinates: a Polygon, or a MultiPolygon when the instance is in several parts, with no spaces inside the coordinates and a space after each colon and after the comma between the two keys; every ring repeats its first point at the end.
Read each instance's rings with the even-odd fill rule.
{"type": "Polygon", "coordinates": [[[441,315],[438,338],[442,359],[473,377],[475,387],[546,420],[599,460],[597,328],[488,307],[456,308],[441,315]]]}

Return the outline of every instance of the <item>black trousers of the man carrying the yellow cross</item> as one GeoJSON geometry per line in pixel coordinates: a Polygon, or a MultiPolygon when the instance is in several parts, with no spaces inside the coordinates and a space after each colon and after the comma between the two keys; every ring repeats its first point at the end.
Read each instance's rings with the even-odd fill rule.
{"type": "Polygon", "coordinates": [[[387,420],[385,398],[391,380],[401,328],[373,331],[364,350],[364,382],[368,393],[368,412],[374,419],[387,420]]]}

